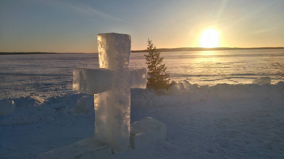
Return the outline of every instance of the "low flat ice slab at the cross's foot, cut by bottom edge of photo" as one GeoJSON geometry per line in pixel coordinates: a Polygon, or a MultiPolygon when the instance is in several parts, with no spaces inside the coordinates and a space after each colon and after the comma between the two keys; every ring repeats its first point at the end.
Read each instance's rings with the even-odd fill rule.
{"type": "Polygon", "coordinates": [[[58,149],[38,155],[37,159],[85,159],[85,158],[109,158],[112,152],[108,144],[99,142],[95,138],[86,138],[76,143],[63,146],[58,149]]]}

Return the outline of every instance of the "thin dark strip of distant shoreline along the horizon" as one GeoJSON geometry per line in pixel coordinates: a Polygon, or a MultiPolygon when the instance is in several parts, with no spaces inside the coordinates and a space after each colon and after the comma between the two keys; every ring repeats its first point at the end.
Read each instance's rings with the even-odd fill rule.
{"type": "MultiPolygon", "coordinates": [[[[257,50],[257,49],[284,49],[284,47],[214,47],[214,48],[204,48],[204,47],[180,47],[180,48],[161,48],[156,49],[158,52],[178,52],[178,51],[220,51],[220,50],[257,50]]],[[[147,50],[131,50],[131,52],[147,52],[147,50]]],[[[94,52],[97,53],[97,52],[94,52]]],[[[80,52],[0,52],[0,55],[19,55],[19,54],[93,54],[93,53],[80,53],[80,52]]]]}

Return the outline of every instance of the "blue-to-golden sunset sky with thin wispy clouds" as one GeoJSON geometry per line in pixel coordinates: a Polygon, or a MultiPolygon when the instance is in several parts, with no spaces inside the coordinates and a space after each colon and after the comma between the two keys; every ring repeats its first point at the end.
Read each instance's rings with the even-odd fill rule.
{"type": "Polygon", "coordinates": [[[0,0],[0,52],[98,52],[96,34],[148,38],[157,48],[202,47],[202,33],[218,31],[216,47],[284,47],[284,0],[0,0]]]}

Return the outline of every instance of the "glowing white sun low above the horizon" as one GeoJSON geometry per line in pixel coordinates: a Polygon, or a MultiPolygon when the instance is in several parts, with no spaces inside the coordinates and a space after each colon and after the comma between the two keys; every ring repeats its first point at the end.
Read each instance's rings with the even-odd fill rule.
{"type": "Polygon", "coordinates": [[[206,29],[200,38],[201,47],[217,47],[219,42],[219,32],[215,29],[206,29]]]}

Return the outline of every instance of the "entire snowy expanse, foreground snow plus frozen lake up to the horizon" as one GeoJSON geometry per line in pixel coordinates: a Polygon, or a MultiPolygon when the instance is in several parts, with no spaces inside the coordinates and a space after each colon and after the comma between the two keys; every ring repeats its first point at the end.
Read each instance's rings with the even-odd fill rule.
{"type": "MultiPolygon", "coordinates": [[[[143,54],[132,53],[130,66],[145,68],[143,54]]],[[[153,117],[167,140],[114,158],[284,158],[284,49],[161,56],[171,79],[202,86],[180,95],[132,89],[131,122],[153,117]],[[273,85],[249,84],[261,76],[273,85]]],[[[83,94],[72,79],[74,67],[98,68],[97,54],[1,55],[0,66],[0,102],[17,105],[0,116],[0,158],[35,158],[93,136],[94,111],[75,109],[83,94]]]]}

